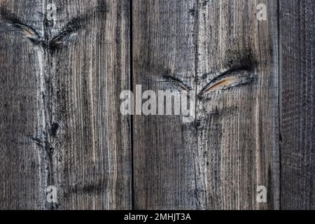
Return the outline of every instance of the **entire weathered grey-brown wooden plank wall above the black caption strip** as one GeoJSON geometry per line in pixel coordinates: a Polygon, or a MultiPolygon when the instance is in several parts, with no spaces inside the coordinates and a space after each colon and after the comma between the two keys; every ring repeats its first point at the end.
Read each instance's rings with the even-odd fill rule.
{"type": "Polygon", "coordinates": [[[0,11],[0,209],[315,209],[315,1],[0,11]],[[176,82],[195,122],[120,114],[121,91],[176,82]]]}

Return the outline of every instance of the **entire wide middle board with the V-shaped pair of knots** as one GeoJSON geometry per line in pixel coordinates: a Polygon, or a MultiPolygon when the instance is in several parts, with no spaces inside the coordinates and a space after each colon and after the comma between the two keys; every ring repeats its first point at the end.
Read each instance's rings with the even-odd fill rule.
{"type": "Polygon", "coordinates": [[[277,5],[264,2],[258,22],[256,1],[134,1],[134,85],[161,89],[167,73],[198,98],[190,125],[134,119],[136,208],[279,208],[277,5]]]}

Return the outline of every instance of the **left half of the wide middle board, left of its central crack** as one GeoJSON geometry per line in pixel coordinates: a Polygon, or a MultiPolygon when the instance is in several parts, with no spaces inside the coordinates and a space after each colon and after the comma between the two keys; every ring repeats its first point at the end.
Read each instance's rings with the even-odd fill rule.
{"type": "MultiPolygon", "coordinates": [[[[136,85],[155,93],[187,85],[195,95],[196,6],[132,1],[134,93],[136,85]]],[[[174,115],[134,116],[134,209],[196,208],[194,124],[174,115]]]]}

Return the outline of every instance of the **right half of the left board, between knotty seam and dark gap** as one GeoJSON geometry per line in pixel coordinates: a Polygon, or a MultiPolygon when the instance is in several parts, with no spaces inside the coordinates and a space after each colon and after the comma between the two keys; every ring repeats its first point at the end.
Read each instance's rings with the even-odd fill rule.
{"type": "Polygon", "coordinates": [[[130,90],[130,3],[55,4],[57,22],[48,28],[54,206],[131,209],[130,117],[120,114],[119,99],[130,90]]]}

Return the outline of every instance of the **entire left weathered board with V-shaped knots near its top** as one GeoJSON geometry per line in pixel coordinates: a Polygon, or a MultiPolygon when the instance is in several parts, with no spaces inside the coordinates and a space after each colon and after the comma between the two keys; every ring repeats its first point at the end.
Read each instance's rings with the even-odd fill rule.
{"type": "Polygon", "coordinates": [[[131,209],[129,1],[25,2],[1,1],[1,207],[131,209]]]}

